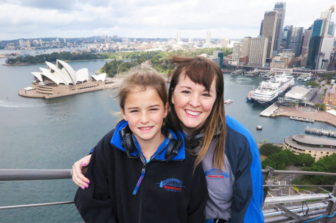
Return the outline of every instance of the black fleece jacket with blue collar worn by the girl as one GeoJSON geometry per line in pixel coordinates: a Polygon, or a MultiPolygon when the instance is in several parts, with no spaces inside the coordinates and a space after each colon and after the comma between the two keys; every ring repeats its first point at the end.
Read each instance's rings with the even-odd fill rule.
{"type": "Polygon", "coordinates": [[[127,158],[119,134],[126,125],[125,121],[119,123],[93,150],[85,174],[90,185],[79,188],[75,195],[84,221],[204,223],[208,190],[202,166],[193,173],[195,160],[185,153],[184,144],[176,156],[165,161],[168,138],[146,163],[133,137],[134,158],[127,158]]]}

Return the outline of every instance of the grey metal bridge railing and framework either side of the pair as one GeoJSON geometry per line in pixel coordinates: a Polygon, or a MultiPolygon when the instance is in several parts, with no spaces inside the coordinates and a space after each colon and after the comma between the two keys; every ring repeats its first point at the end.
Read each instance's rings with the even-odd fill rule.
{"type": "MultiPolygon", "coordinates": [[[[319,175],[319,176],[336,176],[336,173],[326,172],[310,172],[310,171],[291,171],[291,170],[274,170],[267,167],[262,170],[264,182],[264,199],[263,207],[273,205],[273,209],[263,210],[265,223],[277,222],[307,222],[314,219],[322,219],[323,222],[328,222],[336,218],[335,203],[336,203],[336,183],[335,185],[288,185],[288,184],[267,184],[272,179],[273,175],[278,174],[295,174],[295,175],[319,175]],[[284,188],[293,186],[323,186],[332,187],[333,191],[330,193],[310,193],[300,195],[287,196],[268,196],[269,191],[274,187],[284,188]],[[309,205],[305,201],[319,200],[319,202],[312,202],[309,205]],[[283,205],[283,203],[304,202],[306,206],[299,207],[283,205]],[[304,213],[306,212],[306,213],[304,213]]],[[[21,181],[21,180],[54,180],[54,179],[71,179],[72,169],[0,169],[0,181],[21,181]]],[[[74,201],[51,202],[40,204],[24,204],[1,206],[3,209],[26,208],[26,207],[40,207],[50,205],[72,204],[74,201]]],[[[314,220],[315,221],[315,220],[314,220]]],[[[316,221],[315,221],[316,222],[316,221]]]]}

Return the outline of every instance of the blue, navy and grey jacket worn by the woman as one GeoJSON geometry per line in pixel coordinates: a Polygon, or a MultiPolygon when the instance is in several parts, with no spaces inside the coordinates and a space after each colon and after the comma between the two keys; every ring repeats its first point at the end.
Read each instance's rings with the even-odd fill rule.
{"type": "Polygon", "coordinates": [[[210,199],[206,219],[232,219],[232,223],[263,223],[262,172],[258,147],[251,133],[226,115],[224,171],[212,167],[216,138],[202,161],[210,199]]]}

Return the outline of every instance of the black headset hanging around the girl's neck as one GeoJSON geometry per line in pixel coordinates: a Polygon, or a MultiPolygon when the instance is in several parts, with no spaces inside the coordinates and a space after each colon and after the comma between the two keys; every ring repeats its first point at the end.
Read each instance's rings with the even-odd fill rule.
{"type": "MultiPolygon", "coordinates": [[[[180,149],[183,140],[180,136],[179,133],[175,133],[175,135],[177,136],[177,140],[173,137],[172,133],[167,130],[166,131],[166,136],[168,138],[168,140],[170,141],[167,151],[165,153],[165,159],[164,160],[160,160],[160,161],[169,161],[170,159],[172,159],[174,156],[176,156],[178,154],[178,150],[180,149]]],[[[120,131],[119,131],[120,137],[122,139],[122,146],[125,148],[126,150],[126,154],[128,158],[132,158],[132,159],[136,159],[138,158],[138,156],[132,156],[130,155],[131,153],[134,152],[134,141],[133,141],[133,133],[130,130],[130,128],[128,127],[128,125],[126,127],[123,127],[120,131]]]]}

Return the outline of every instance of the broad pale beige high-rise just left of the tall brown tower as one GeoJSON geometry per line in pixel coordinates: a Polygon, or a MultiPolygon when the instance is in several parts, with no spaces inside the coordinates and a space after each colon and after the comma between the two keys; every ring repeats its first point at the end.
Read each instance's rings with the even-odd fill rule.
{"type": "Polygon", "coordinates": [[[256,37],[251,40],[251,50],[249,55],[249,65],[265,66],[268,38],[256,37]]]}

